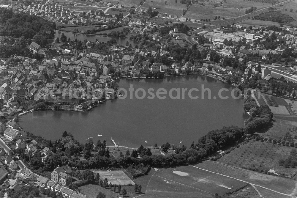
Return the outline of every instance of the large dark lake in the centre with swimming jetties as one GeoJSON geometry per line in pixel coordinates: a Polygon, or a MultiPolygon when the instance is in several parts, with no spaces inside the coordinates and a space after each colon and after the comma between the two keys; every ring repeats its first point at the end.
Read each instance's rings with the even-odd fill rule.
{"type": "MultiPolygon", "coordinates": [[[[163,80],[122,78],[118,84],[127,91],[131,84],[135,90],[153,88],[155,95],[159,88],[168,92],[172,88],[201,90],[204,85],[211,90],[212,99],[191,99],[187,92],[185,99],[171,99],[169,96],[165,99],[149,99],[149,94],[137,99],[134,95],[133,99],[127,97],[105,101],[83,113],[34,111],[21,116],[19,124],[26,131],[51,140],[61,138],[62,132],[67,131],[81,143],[89,137],[97,141],[97,134],[102,134],[101,141],[105,139],[108,145],[113,145],[113,137],[116,144],[128,147],[139,147],[140,144],[146,144],[145,140],[149,146],[166,142],[178,145],[182,141],[181,144],[189,147],[208,131],[223,126],[243,126],[244,120],[248,118],[243,110],[244,100],[230,97],[233,87],[214,78],[198,75],[163,80]],[[229,99],[213,99],[221,88],[225,88],[222,95],[229,96],[229,99]]],[[[138,92],[138,96],[142,95],[142,92],[138,92]]],[[[172,92],[172,95],[176,96],[177,92],[172,92]]],[[[192,95],[199,96],[199,92],[192,92],[192,95]]]]}

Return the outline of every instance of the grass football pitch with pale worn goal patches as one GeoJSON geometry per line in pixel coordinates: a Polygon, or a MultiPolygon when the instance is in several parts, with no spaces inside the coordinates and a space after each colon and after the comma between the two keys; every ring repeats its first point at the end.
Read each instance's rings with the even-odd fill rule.
{"type": "Polygon", "coordinates": [[[223,195],[244,185],[232,178],[181,166],[157,170],[149,183],[147,197],[213,197],[215,193],[223,195]]]}

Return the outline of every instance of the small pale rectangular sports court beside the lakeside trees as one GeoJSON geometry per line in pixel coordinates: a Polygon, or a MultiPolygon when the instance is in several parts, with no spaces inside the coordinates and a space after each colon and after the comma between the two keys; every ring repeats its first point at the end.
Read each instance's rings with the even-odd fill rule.
{"type": "Polygon", "coordinates": [[[113,185],[128,185],[135,183],[124,173],[124,171],[93,171],[94,173],[99,173],[99,176],[102,180],[105,178],[108,180],[108,183],[112,183],[113,185]]]}

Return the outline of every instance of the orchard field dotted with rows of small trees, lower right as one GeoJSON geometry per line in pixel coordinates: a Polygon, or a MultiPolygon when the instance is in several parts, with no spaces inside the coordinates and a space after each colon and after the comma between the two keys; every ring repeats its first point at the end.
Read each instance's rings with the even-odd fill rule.
{"type": "Polygon", "coordinates": [[[218,162],[257,171],[272,169],[278,174],[294,176],[297,173],[296,168],[279,166],[279,160],[289,156],[292,149],[294,148],[284,145],[249,140],[239,148],[223,155],[218,162]]]}

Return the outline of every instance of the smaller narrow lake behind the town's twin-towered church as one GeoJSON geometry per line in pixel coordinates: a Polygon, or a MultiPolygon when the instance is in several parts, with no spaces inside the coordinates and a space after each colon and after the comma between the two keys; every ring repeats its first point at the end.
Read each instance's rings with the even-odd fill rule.
{"type": "Polygon", "coordinates": [[[99,42],[107,43],[109,40],[115,39],[117,45],[126,46],[127,41],[129,42],[129,44],[132,45],[132,47],[135,47],[135,45],[140,45],[136,41],[130,40],[130,39],[124,38],[124,37],[111,37],[111,36],[90,35],[90,34],[76,34],[76,33],[72,33],[72,32],[61,32],[58,30],[56,30],[55,37],[61,38],[62,33],[64,33],[64,35],[67,37],[67,39],[70,37],[71,40],[77,39],[80,41],[84,41],[86,39],[91,42],[96,42],[96,39],[97,39],[99,42]]]}

